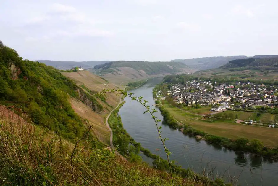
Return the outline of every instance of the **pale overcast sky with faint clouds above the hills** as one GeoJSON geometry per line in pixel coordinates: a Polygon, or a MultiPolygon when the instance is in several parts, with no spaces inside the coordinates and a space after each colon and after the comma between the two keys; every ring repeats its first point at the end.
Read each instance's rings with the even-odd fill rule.
{"type": "Polygon", "coordinates": [[[29,60],[278,54],[277,0],[0,1],[0,40],[29,60]]]}

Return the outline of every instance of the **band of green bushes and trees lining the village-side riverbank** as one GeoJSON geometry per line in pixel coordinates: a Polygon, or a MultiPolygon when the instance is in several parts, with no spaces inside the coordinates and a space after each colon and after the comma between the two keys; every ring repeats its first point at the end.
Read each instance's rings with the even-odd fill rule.
{"type": "MultiPolygon", "coordinates": [[[[176,76],[168,76],[164,78],[164,82],[162,82],[159,85],[156,85],[156,87],[153,89],[153,96],[156,97],[157,91],[164,91],[167,92],[167,87],[169,83],[172,82],[184,82],[187,81],[188,77],[187,75],[176,75],[176,76]],[[173,79],[171,79],[173,78],[173,79]],[[173,80],[173,81],[172,81],[173,80]]],[[[258,140],[258,139],[248,139],[248,138],[238,138],[238,139],[229,139],[225,137],[215,136],[211,135],[209,133],[206,133],[204,131],[199,130],[198,128],[191,126],[190,124],[182,124],[180,122],[177,122],[172,115],[169,113],[167,108],[165,108],[159,100],[156,100],[156,104],[158,105],[159,110],[161,111],[161,114],[164,117],[164,121],[167,121],[166,123],[168,125],[171,125],[174,128],[179,128],[184,133],[188,133],[190,135],[194,136],[201,136],[203,139],[205,139],[209,143],[217,144],[224,146],[226,148],[235,150],[235,151],[245,151],[245,152],[251,152],[258,155],[263,155],[270,158],[277,158],[278,155],[278,147],[276,148],[269,148],[265,147],[264,144],[258,140]]],[[[177,105],[175,103],[174,106],[177,105]]],[[[209,121],[209,119],[206,119],[208,122],[216,122],[216,121],[227,121],[226,119],[218,118],[209,121]]],[[[203,121],[199,121],[203,122],[203,121]]]]}

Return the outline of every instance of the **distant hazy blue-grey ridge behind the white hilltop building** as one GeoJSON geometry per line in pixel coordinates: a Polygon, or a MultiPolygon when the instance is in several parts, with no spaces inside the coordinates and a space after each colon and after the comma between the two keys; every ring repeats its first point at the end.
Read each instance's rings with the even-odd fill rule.
{"type": "Polygon", "coordinates": [[[82,66],[84,69],[93,68],[95,65],[107,63],[107,61],[52,61],[52,60],[37,60],[49,66],[53,66],[60,70],[69,70],[76,66],[82,66]]]}

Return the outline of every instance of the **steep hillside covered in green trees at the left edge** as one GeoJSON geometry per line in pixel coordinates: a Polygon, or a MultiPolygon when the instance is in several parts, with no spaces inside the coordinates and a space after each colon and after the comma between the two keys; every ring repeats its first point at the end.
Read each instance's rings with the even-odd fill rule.
{"type": "Polygon", "coordinates": [[[96,112],[103,108],[96,98],[80,89],[57,69],[43,63],[22,60],[0,41],[0,103],[27,113],[67,139],[80,137],[83,120],[73,111],[68,98],[80,99],[96,112]]]}

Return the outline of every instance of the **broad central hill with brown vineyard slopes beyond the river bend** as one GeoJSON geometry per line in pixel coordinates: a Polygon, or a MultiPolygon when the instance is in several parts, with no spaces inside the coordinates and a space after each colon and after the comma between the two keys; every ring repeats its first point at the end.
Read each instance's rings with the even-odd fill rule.
{"type": "Polygon", "coordinates": [[[94,69],[89,70],[117,84],[149,77],[193,72],[188,66],[179,62],[148,61],[110,61],[103,65],[96,65],[94,69]]]}

